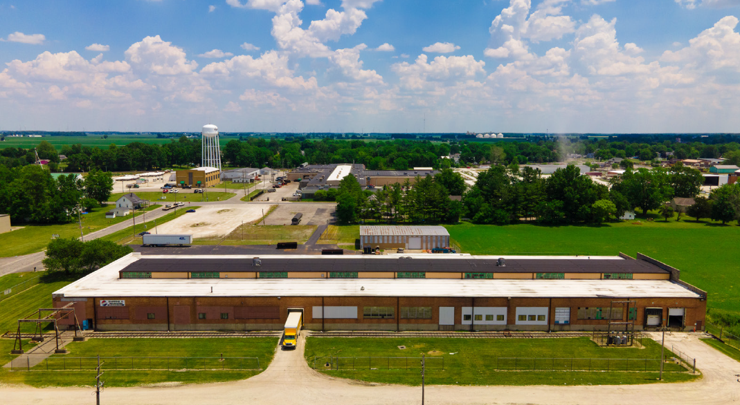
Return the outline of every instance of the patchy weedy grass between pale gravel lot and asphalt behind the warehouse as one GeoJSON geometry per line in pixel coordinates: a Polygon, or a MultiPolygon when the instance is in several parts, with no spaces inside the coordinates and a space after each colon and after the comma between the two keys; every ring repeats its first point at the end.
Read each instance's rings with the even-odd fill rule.
{"type": "Polygon", "coordinates": [[[221,245],[274,245],[277,242],[306,243],[316,225],[239,225],[221,245]],[[244,230],[242,240],[241,231],[244,230]]]}

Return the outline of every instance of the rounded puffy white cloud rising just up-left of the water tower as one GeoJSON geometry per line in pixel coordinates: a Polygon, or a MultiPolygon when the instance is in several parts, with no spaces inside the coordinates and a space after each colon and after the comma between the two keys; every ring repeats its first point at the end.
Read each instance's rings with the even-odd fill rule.
{"type": "Polygon", "coordinates": [[[159,35],[147,36],[132,44],[124,55],[135,69],[156,75],[187,75],[198,67],[197,62],[187,60],[182,48],[162,41],[159,35]]]}

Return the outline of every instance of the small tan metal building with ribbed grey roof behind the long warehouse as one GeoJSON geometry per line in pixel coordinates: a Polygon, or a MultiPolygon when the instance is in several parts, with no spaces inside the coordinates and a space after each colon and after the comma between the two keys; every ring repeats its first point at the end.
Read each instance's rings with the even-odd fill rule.
{"type": "Polygon", "coordinates": [[[450,234],[443,226],[360,225],[360,247],[381,249],[448,248],[450,234]]]}

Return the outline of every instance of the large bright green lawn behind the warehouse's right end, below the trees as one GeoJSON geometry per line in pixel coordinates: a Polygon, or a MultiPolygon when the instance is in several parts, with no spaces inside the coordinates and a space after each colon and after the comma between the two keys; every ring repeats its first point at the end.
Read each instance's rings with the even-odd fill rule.
{"type": "Polygon", "coordinates": [[[707,306],[740,314],[740,226],[693,220],[640,220],[601,226],[445,225],[453,242],[473,254],[630,256],[637,252],[681,270],[681,279],[709,293],[707,306]]]}

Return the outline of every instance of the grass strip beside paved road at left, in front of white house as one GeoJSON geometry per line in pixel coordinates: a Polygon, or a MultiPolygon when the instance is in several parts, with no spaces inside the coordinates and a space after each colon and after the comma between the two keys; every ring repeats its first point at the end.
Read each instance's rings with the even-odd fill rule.
{"type": "MultiPolygon", "coordinates": [[[[152,211],[160,206],[152,205],[147,208],[147,211],[152,211]]],[[[115,225],[118,222],[132,218],[131,216],[127,216],[108,219],[105,217],[105,213],[109,209],[109,207],[95,208],[89,214],[82,215],[83,234],[91,234],[92,232],[100,231],[110,225],[115,225]]],[[[137,211],[136,217],[141,217],[142,214],[137,211]]],[[[16,224],[13,223],[13,225],[16,224]]],[[[6,234],[0,234],[0,246],[2,246],[0,257],[19,256],[43,251],[49,245],[53,234],[57,234],[62,238],[80,236],[80,228],[77,221],[63,225],[17,225],[22,225],[24,228],[7,232],[6,234]]]]}

